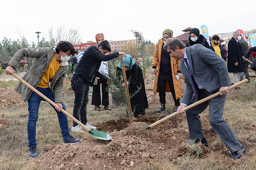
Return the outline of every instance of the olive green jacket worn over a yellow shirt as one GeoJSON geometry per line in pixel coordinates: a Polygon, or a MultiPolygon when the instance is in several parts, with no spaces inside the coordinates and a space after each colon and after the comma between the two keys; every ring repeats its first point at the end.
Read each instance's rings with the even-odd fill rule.
{"type": "MultiPolygon", "coordinates": [[[[41,82],[48,65],[54,57],[55,52],[55,48],[21,48],[12,57],[9,65],[16,68],[17,64],[23,57],[35,58],[35,61],[31,65],[29,71],[27,71],[27,73],[23,76],[23,79],[36,88],[41,82]]],[[[50,80],[49,87],[52,89],[52,93],[55,96],[55,103],[62,103],[63,82],[67,69],[68,62],[62,61],[61,66],[56,72],[55,76],[50,80]]],[[[27,102],[32,94],[32,90],[21,82],[17,84],[15,91],[20,94],[24,102],[27,102]]]]}

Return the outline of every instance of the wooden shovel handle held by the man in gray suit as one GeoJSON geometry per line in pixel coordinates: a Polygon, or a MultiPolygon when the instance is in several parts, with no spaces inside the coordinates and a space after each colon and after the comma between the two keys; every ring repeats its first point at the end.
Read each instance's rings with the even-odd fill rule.
{"type": "MultiPolygon", "coordinates": [[[[237,86],[239,86],[239,85],[242,85],[242,84],[244,84],[244,83],[246,83],[246,82],[248,82],[248,80],[247,80],[247,79],[244,79],[244,80],[242,80],[242,81],[240,81],[240,82],[238,82],[238,83],[236,83],[236,84],[234,84],[234,85],[231,85],[230,87],[227,88],[227,90],[231,90],[231,89],[233,89],[233,88],[235,88],[235,87],[237,87],[237,86]]],[[[193,104],[191,104],[191,105],[186,106],[186,107],[183,108],[182,110],[183,110],[183,111],[189,110],[190,108],[193,108],[193,107],[195,107],[196,105],[199,105],[199,104],[201,104],[201,103],[203,103],[203,102],[206,102],[207,100],[212,99],[212,98],[214,98],[214,97],[216,97],[216,96],[218,96],[218,95],[220,95],[220,93],[219,93],[219,92],[216,92],[215,94],[212,94],[212,95],[210,95],[210,96],[208,96],[208,97],[206,97],[206,98],[204,98],[204,99],[201,99],[201,100],[199,100],[199,101],[197,101],[197,102],[195,102],[195,103],[193,103],[193,104]]],[[[170,119],[171,117],[176,116],[177,114],[178,114],[178,112],[174,112],[174,113],[170,114],[169,116],[166,116],[166,117],[164,117],[163,119],[160,119],[160,120],[158,120],[157,122],[154,122],[154,123],[152,123],[151,125],[147,126],[147,129],[150,129],[151,127],[154,127],[154,126],[156,126],[156,125],[162,123],[163,121],[166,121],[167,119],[170,119]]]]}

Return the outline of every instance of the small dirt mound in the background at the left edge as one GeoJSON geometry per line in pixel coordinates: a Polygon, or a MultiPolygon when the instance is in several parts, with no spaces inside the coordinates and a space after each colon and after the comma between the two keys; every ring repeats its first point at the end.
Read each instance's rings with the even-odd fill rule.
{"type": "Polygon", "coordinates": [[[19,108],[27,105],[14,88],[0,88],[0,109],[19,108]]]}

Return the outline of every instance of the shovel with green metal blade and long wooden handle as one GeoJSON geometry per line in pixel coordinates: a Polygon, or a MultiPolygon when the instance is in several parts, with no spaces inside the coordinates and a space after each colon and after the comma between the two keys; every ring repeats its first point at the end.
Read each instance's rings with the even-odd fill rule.
{"type": "MultiPolygon", "coordinates": [[[[55,102],[52,102],[52,100],[48,99],[47,96],[44,96],[44,94],[41,94],[38,90],[36,90],[34,87],[32,87],[32,85],[30,85],[29,83],[27,83],[25,80],[21,79],[20,77],[18,77],[15,73],[12,73],[12,75],[18,79],[20,82],[22,82],[24,85],[26,85],[28,88],[30,88],[32,91],[34,91],[36,94],[38,94],[39,96],[43,97],[47,102],[49,102],[51,105],[53,106],[57,106],[55,104],[55,102]]],[[[67,115],[68,117],[70,117],[71,119],[73,119],[73,121],[75,121],[77,124],[79,124],[81,127],[83,127],[85,130],[87,130],[90,134],[93,135],[94,138],[97,139],[102,139],[105,141],[111,140],[112,137],[105,132],[101,132],[99,130],[90,130],[87,126],[85,126],[84,124],[82,124],[81,122],[79,122],[79,120],[77,120],[76,118],[74,118],[72,115],[70,115],[70,113],[67,113],[67,111],[65,111],[64,109],[61,109],[61,112],[64,113],[65,115],[67,115]]]]}

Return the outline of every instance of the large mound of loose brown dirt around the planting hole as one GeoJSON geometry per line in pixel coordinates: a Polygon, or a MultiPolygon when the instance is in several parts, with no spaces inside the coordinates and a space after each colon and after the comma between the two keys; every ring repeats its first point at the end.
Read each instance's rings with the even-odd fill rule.
{"type": "MultiPolygon", "coordinates": [[[[177,125],[186,121],[185,116],[175,116],[146,130],[148,123],[157,119],[160,117],[149,115],[133,123],[125,118],[104,122],[98,125],[99,130],[108,131],[113,137],[111,141],[93,139],[74,145],[47,145],[45,150],[48,151],[43,156],[28,161],[53,170],[130,170],[142,164],[149,166],[153,161],[162,159],[172,161],[184,153],[201,158],[212,156],[209,150],[215,146],[194,146],[184,142],[189,139],[189,131],[187,127],[180,128],[177,125]],[[197,147],[201,147],[200,152],[197,147]]],[[[208,116],[202,116],[201,119],[204,129],[211,131],[208,116]]],[[[217,138],[214,132],[207,135],[209,141],[217,138]]],[[[218,155],[218,151],[215,152],[218,155]]]]}

